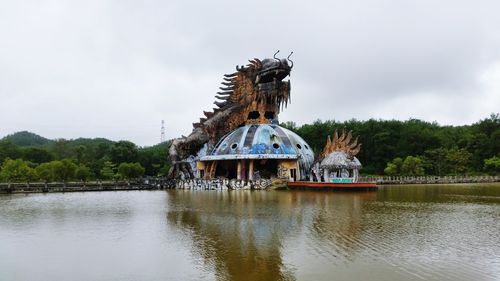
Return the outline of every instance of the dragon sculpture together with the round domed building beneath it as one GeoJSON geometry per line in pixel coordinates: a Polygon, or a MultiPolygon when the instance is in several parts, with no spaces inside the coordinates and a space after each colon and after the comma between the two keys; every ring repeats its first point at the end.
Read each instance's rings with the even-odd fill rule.
{"type": "Polygon", "coordinates": [[[274,175],[281,162],[291,159],[308,174],[314,154],[306,151],[310,149],[302,138],[277,125],[278,114],[290,102],[290,81],[284,79],[293,68],[293,52],[287,58],[277,58],[278,53],[249,60],[224,75],[216,107],[203,112],[189,136],[172,142],[171,178],[214,178],[225,167],[225,176],[251,179],[253,159],[279,160],[278,166],[273,164],[274,175]]]}

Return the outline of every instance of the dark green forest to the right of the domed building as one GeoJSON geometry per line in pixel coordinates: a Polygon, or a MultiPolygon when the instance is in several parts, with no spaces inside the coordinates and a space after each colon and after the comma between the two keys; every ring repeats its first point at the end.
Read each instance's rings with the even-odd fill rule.
{"type": "Polygon", "coordinates": [[[472,125],[440,126],[417,119],[407,121],[321,121],[300,127],[281,124],[298,133],[317,153],[334,130],[352,130],[363,144],[357,156],[363,174],[474,175],[500,173],[500,116],[472,125]]]}

